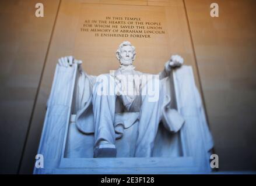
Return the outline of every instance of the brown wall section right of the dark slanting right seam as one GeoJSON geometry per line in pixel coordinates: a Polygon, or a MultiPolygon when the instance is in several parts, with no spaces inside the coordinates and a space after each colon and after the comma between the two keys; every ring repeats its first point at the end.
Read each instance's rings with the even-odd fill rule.
{"type": "Polygon", "coordinates": [[[255,1],[185,0],[220,170],[256,169],[255,1]]]}

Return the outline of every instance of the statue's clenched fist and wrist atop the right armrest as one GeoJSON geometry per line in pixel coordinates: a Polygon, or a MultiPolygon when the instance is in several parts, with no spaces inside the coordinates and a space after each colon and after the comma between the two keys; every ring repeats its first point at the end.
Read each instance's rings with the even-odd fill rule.
{"type": "Polygon", "coordinates": [[[172,69],[183,65],[184,59],[179,55],[171,56],[170,60],[164,65],[164,70],[160,71],[159,79],[162,80],[164,77],[169,76],[172,69]]]}

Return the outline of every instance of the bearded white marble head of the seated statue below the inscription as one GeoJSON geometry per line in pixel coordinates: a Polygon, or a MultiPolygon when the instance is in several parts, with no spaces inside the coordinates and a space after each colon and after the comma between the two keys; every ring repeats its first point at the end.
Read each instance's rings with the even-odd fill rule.
{"type": "Polygon", "coordinates": [[[131,42],[124,41],[119,45],[116,54],[121,65],[132,65],[136,56],[135,47],[131,45],[131,42]]]}

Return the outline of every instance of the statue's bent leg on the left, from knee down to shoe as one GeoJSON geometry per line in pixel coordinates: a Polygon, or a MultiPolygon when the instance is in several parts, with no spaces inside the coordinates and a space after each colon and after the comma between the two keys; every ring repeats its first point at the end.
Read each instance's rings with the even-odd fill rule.
{"type": "Polygon", "coordinates": [[[94,158],[115,157],[115,94],[114,78],[109,74],[97,77],[93,86],[94,158]]]}

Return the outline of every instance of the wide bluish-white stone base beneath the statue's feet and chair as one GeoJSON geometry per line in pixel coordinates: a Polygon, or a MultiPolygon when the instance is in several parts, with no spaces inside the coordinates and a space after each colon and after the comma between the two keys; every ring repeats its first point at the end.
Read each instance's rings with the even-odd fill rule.
{"type": "MultiPolygon", "coordinates": [[[[50,167],[51,162],[45,162],[50,167]]],[[[58,169],[35,169],[36,174],[209,174],[192,158],[83,158],[61,160],[58,169]]]]}

